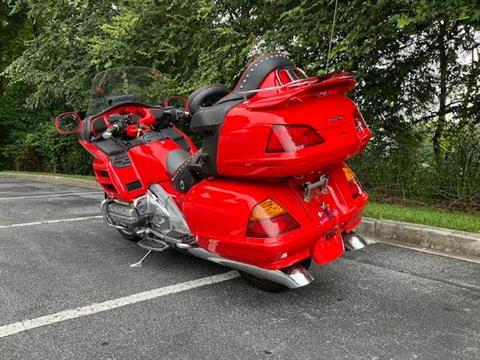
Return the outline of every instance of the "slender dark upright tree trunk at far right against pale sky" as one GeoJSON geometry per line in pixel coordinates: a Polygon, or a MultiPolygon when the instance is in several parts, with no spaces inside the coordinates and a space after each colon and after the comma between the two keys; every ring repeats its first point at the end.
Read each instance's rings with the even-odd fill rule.
{"type": "Polygon", "coordinates": [[[446,105],[447,105],[447,71],[448,71],[448,55],[446,48],[447,41],[447,24],[442,21],[438,34],[438,53],[439,53],[439,72],[440,72],[440,93],[438,95],[438,112],[437,126],[433,135],[433,151],[437,164],[442,158],[441,140],[446,125],[446,105]]]}

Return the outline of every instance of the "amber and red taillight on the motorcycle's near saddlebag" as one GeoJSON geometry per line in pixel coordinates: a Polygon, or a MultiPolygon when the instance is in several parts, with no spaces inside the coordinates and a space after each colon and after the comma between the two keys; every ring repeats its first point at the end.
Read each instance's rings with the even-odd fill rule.
{"type": "Polygon", "coordinates": [[[247,225],[247,236],[275,237],[298,229],[300,224],[281,205],[267,199],[255,205],[247,225]]]}

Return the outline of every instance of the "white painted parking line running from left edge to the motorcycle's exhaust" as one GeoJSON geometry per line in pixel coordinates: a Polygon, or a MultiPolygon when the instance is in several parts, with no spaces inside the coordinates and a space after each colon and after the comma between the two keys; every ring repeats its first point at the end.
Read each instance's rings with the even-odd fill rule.
{"type": "Polygon", "coordinates": [[[236,271],[229,271],[220,275],[213,275],[204,277],[201,279],[191,280],[175,285],[165,286],[158,289],[148,290],[141,293],[121,297],[114,300],[108,300],[101,303],[95,303],[87,306],[78,307],[75,309],[69,309],[41,316],[36,319],[30,319],[20,321],[10,325],[4,325],[0,327],[0,338],[18,334],[27,330],[35,329],[38,327],[55,324],[65,320],[76,319],[82,316],[88,316],[99,312],[116,309],[122,306],[136,304],[139,302],[152,300],[161,296],[175,294],[182,291],[187,291],[202,286],[212,285],[219,282],[227,281],[238,277],[239,274],[236,271]]]}

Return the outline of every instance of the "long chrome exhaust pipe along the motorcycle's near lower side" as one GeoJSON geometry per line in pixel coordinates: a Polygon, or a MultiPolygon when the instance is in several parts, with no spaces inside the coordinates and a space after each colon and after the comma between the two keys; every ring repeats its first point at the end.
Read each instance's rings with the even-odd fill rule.
{"type": "MultiPolygon", "coordinates": [[[[155,232],[154,232],[155,233],[155,232]]],[[[226,259],[218,254],[205,250],[195,244],[186,244],[177,239],[170,238],[162,234],[156,234],[163,241],[169,243],[173,248],[186,252],[200,259],[211,261],[218,265],[223,265],[235,270],[243,271],[258,278],[270,280],[282,284],[289,289],[296,289],[310,284],[314,278],[301,265],[292,265],[282,270],[268,270],[258,266],[250,265],[240,261],[226,259]]]]}

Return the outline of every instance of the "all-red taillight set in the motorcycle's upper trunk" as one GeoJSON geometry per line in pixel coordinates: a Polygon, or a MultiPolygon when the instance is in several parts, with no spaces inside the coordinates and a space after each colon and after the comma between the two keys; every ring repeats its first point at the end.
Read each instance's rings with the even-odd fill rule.
{"type": "Polygon", "coordinates": [[[300,150],[323,143],[320,134],[308,125],[273,125],[267,142],[267,153],[300,150]]]}

